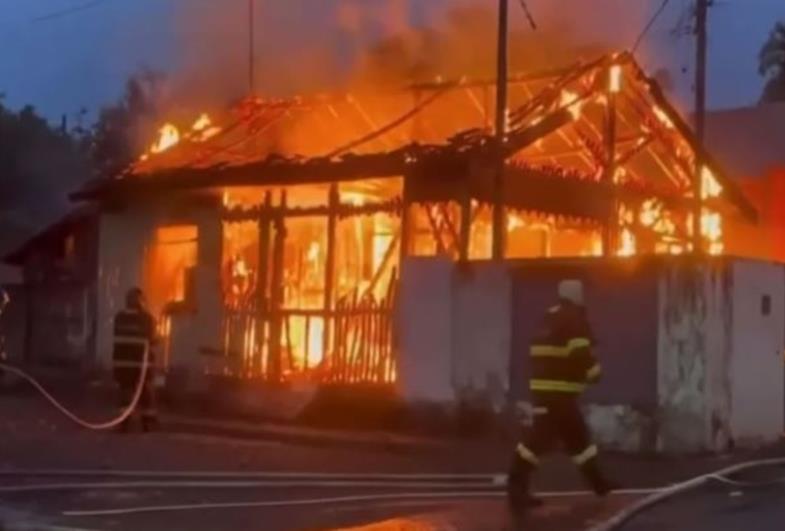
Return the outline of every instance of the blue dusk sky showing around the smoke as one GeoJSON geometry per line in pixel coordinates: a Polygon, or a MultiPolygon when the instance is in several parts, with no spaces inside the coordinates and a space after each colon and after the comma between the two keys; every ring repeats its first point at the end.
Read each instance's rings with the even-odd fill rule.
{"type": "MultiPolygon", "coordinates": [[[[95,0],[92,0],[95,1],[95,0]]],[[[443,9],[459,0],[344,0],[360,4],[384,2],[406,5],[409,23],[438,21],[443,9]]],[[[496,0],[474,0],[496,4],[496,0]]],[[[67,16],[40,19],[61,10],[92,3],[91,0],[0,0],[0,92],[5,104],[17,108],[32,104],[48,117],[74,115],[81,108],[94,112],[116,99],[124,80],[140,66],[176,72],[186,61],[183,39],[184,11],[220,2],[222,11],[235,11],[241,27],[224,33],[236,38],[238,49],[245,42],[242,14],[246,0],[104,0],[67,16]]],[[[689,0],[672,0],[670,7],[653,27],[642,54],[649,70],[666,66],[674,78],[675,98],[689,101],[693,67],[693,41],[675,38],[670,30],[689,0]],[[656,59],[652,59],[656,58],[656,59]],[[688,73],[683,73],[686,68],[688,73]]],[[[331,10],[339,0],[259,0],[260,32],[273,35],[277,53],[298,46],[318,45],[331,31],[331,10]],[[275,4],[275,5],[271,5],[275,4]],[[299,7],[289,8],[297,5],[299,7]],[[287,6],[287,8],[280,7],[287,6]],[[303,7],[306,6],[306,7],[303,7]],[[282,10],[287,12],[284,14],[282,10]],[[322,21],[328,21],[322,23],[322,21]],[[307,44],[304,44],[307,43],[307,44]]],[[[539,22],[548,23],[542,13],[558,8],[575,18],[585,18],[586,4],[603,13],[595,20],[581,21],[580,31],[587,41],[607,40],[629,47],[660,0],[530,0],[539,22]],[[617,13],[617,15],[614,15],[617,13]],[[634,23],[620,24],[623,18],[634,23]],[[626,43],[626,44],[625,44],[626,43]]],[[[709,101],[712,107],[753,104],[761,88],[757,75],[757,52],[777,19],[785,20],[785,0],[720,0],[711,11],[711,51],[709,101]]],[[[513,22],[523,24],[517,0],[511,2],[513,22]]],[[[228,36],[228,37],[227,37],[228,36]]],[[[212,36],[215,38],[215,36],[212,36]]],[[[210,35],[204,39],[209,41],[210,35]]],[[[208,44],[209,45],[209,44],[208,44]]],[[[259,53],[269,51],[263,46],[259,53]]],[[[193,61],[190,58],[190,61],[193,61]]]]}

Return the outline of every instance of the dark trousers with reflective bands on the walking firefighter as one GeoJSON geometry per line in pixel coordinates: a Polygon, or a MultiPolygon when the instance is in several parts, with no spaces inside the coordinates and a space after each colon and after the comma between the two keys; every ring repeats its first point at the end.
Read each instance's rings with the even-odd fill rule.
{"type": "Polygon", "coordinates": [[[589,430],[576,398],[557,397],[537,400],[534,423],[515,448],[508,479],[508,491],[514,503],[519,496],[529,496],[529,482],[534,469],[545,454],[561,445],[572,457],[595,493],[604,496],[610,490],[602,476],[597,446],[591,443],[589,430]]]}

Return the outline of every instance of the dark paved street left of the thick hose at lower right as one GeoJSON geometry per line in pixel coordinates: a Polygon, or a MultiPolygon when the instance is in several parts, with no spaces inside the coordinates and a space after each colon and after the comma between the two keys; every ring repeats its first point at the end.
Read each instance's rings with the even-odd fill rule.
{"type": "MultiPolygon", "coordinates": [[[[490,484],[488,479],[505,469],[510,444],[504,442],[445,441],[440,447],[383,451],[343,448],[335,444],[304,445],[166,431],[128,435],[96,433],[66,423],[32,396],[9,395],[0,396],[0,433],[3,434],[0,438],[0,519],[10,529],[14,529],[14,526],[30,529],[31,525],[34,529],[47,529],[48,525],[61,529],[120,531],[285,531],[351,529],[358,526],[384,531],[512,529],[500,490],[498,486],[490,484]],[[142,470],[158,475],[129,478],[9,474],[10,471],[23,469],[142,470]],[[374,481],[372,485],[358,485],[345,483],[347,478],[343,476],[286,475],[243,487],[224,485],[219,488],[214,484],[188,484],[170,488],[160,484],[162,481],[190,481],[189,478],[172,476],[177,471],[268,475],[286,472],[307,473],[309,476],[316,473],[344,476],[482,474],[486,479],[483,484],[479,484],[471,478],[429,480],[406,476],[398,480],[406,485],[391,485],[389,479],[383,478],[369,478],[368,481],[374,481]],[[155,483],[143,486],[126,484],[137,481],[155,483]],[[423,481],[427,484],[423,484],[423,481]],[[95,485],[102,482],[122,484],[112,485],[111,488],[95,485]],[[439,485],[433,485],[432,482],[439,485]],[[33,485],[51,483],[78,485],[66,489],[29,490],[33,485]],[[83,486],[83,483],[93,485],[83,486]],[[20,492],[20,487],[28,490],[20,492]],[[466,491],[472,492],[472,497],[455,494],[466,491]],[[420,493],[429,496],[436,493],[443,497],[421,499],[420,493]],[[198,509],[190,507],[187,510],[178,507],[200,504],[212,506],[198,509]],[[231,506],[215,507],[215,504],[231,506]],[[167,506],[171,510],[84,514],[84,511],[127,511],[159,506],[167,506]]],[[[739,459],[742,457],[738,456],[739,459]]],[[[706,458],[662,462],[617,455],[608,455],[606,458],[611,474],[625,487],[667,485],[700,472],[722,468],[730,461],[706,458]]],[[[236,481],[239,478],[224,476],[207,479],[236,481]]],[[[565,458],[548,460],[535,478],[535,487],[540,492],[556,493],[583,488],[572,465],[565,458]]],[[[598,501],[581,495],[552,497],[548,499],[545,508],[531,515],[523,528],[527,531],[582,529],[610,516],[636,498],[632,495],[614,496],[609,500],[598,501]]]]}

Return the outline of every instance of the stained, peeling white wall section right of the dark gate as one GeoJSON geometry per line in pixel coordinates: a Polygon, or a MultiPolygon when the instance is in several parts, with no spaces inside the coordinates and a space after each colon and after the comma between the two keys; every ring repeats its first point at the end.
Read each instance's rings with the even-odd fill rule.
{"type": "Polygon", "coordinates": [[[659,283],[657,448],[724,449],[729,432],[730,271],[666,263],[659,283]]]}

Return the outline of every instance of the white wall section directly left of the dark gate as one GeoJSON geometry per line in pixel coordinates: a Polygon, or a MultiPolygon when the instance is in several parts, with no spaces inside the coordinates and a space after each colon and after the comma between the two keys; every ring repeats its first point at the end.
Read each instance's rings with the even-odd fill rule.
{"type": "Polygon", "coordinates": [[[512,341],[512,282],[507,266],[453,269],[452,385],[466,399],[487,399],[497,411],[507,401],[512,341]]]}

